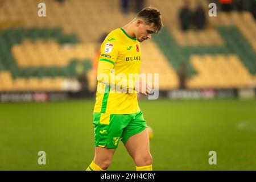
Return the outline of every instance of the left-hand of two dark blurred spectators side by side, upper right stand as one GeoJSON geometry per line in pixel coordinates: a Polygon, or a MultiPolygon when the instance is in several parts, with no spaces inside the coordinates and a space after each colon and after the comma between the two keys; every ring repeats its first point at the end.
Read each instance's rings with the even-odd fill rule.
{"type": "Polygon", "coordinates": [[[180,24],[183,31],[188,30],[189,25],[191,23],[191,11],[189,9],[189,1],[184,1],[184,6],[181,7],[179,18],[180,18],[180,24]]]}

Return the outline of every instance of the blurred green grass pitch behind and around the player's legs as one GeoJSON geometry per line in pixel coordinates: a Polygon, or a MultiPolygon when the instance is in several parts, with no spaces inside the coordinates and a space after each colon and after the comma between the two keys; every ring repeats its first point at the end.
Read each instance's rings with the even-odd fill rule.
{"type": "MultiPolygon", "coordinates": [[[[256,170],[256,101],[143,100],[154,170],[256,170]],[[217,152],[210,165],[209,151],[217,152]]],[[[94,155],[93,100],[0,104],[0,170],[84,170],[94,155]],[[46,165],[38,164],[46,151],[46,165]]],[[[119,143],[109,170],[135,170],[119,143]]]]}

